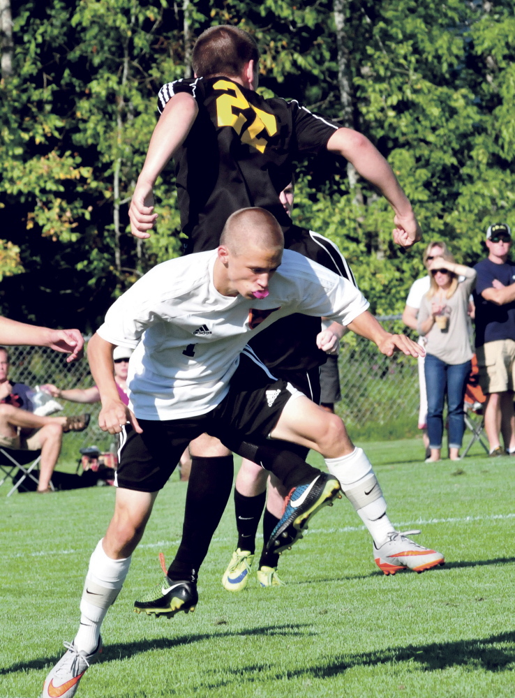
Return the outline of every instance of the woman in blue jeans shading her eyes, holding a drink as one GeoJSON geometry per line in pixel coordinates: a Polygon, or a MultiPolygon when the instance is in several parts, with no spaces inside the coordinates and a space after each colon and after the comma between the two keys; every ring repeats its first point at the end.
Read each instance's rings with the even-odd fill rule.
{"type": "Polygon", "coordinates": [[[463,399],[470,373],[468,299],[476,281],[475,269],[456,264],[449,253],[428,265],[431,285],[422,298],[418,330],[426,337],[424,373],[428,401],[427,429],[431,455],[426,463],[440,461],[443,408],[447,396],[449,458],[459,460],[465,431],[463,399]],[[458,277],[463,277],[463,281],[458,277]]]}

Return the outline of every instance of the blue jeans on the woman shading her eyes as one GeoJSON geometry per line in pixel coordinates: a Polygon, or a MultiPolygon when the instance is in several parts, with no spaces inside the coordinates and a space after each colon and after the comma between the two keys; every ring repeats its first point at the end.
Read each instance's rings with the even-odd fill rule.
{"type": "Polygon", "coordinates": [[[443,408],[446,394],[449,448],[461,448],[465,431],[463,399],[470,367],[470,361],[451,365],[432,354],[426,354],[424,371],[427,389],[427,433],[431,448],[442,447],[443,408]]]}

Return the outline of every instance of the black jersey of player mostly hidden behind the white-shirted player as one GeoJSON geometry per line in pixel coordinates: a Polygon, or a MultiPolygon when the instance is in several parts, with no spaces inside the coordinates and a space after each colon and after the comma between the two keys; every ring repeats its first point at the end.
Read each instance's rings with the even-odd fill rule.
{"type": "MultiPolygon", "coordinates": [[[[318,262],[357,286],[345,257],[327,237],[291,225],[285,232],[285,247],[318,262]]],[[[274,375],[288,380],[290,372],[309,371],[325,363],[326,354],[316,345],[320,329],[320,318],[296,313],[277,320],[253,337],[249,344],[274,375]]]]}

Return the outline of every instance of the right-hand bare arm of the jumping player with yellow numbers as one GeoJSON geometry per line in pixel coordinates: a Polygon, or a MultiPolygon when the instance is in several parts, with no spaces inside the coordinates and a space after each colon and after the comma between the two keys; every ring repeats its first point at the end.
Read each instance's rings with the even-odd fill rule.
{"type": "Polygon", "coordinates": [[[411,247],[422,239],[420,226],[415,218],[410,200],[398,183],[394,171],[377,148],[361,133],[352,128],[338,128],[327,149],[348,160],[361,177],[368,179],[379,189],[394,209],[394,242],[401,247],[411,247]]]}

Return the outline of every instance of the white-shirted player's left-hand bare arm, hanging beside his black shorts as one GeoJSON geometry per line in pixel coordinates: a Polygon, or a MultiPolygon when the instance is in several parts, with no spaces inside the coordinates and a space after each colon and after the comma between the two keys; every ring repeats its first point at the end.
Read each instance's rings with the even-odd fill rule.
{"type": "Polygon", "coordinates": [[[112,372],[114,344],[94,334],[88,343],[88,360],[91,374],[100,393],[102,409],[98,415],[98,426],[110,434],[120,433],[121,427],[130,422],[135,431],[142,433],[137,419],[121,401],[112,372]]]}

